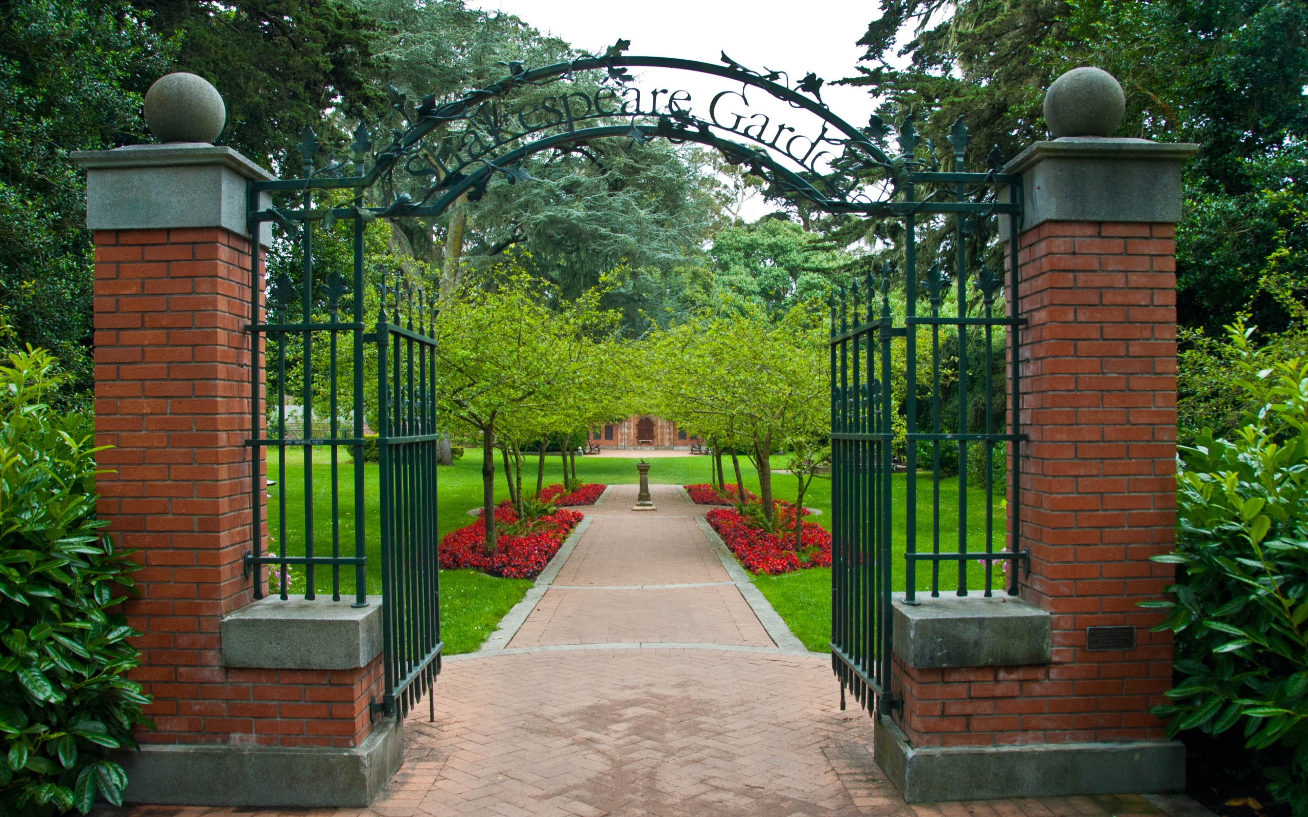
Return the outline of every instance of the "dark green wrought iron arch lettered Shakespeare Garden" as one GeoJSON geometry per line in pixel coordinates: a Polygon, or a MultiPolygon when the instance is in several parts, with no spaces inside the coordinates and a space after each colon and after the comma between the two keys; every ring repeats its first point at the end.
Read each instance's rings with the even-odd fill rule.
{"type": "MultiPolygon", "coordinates": [[[[306,157],[306,178],[262,183],[259,188],[360,190],[407,173],[411,178],[429,178],[432,183],[420,186],[417,196],[405,192],[385,207],[368,208],[368,213],[360,214],[365,218],[434,217],[463,195],[470,200],[480,199],[496,174],[501,174],[509,183],[530,178],[522,161],[536,153],[599,139],[629,137],[645,141],[662,137],[713,148],[729,162],[748,166],[749,173],[772,183],[776,191],[802,197],[823,212],[884,217],[922,208],[922,201],[903,200],[901,190],[910,183],[909,176],[914,171],[934,171],[939,166],[934,154],[914,156],[920,140],[912,122],[899,127],[896,136],[901,153],[891,156],[883,145],[893,129],[876,116],[870,119],[867,127],[858,128],[836,115],[821,101],[823,80],[811,73],[791,88],[783,72],[751,71],[726,54],[722,55],[723,64],[717,65],[675,58],[625,56],[625,44],[627,41],[619,41],[604,56],[583,56],[535,69],[510,63],[509,76],[446,103],[426,97],[413,106],[392,89],[394,108],[405,127],[395,129],[391,142],[370,157],[371,135],[361,124],[351,145],[352,175],[341,175],[347,166],[344,161],[334,162],[328,158],[320,166],[314,163],[317,139],[306,128],[305,141],[301,142],[306,157]],[[740,90],[729,89],[715,94],[708,107],[708,118],[680,107],[680,103],[691,101],[689,95],[678,98],[678,94],[685,93],[680,90],[655,88],[649,110],[645,110],[642,92],[633,84],[629,68],[667,68],[713,76],[739,82],[740,90]],[[519,101],[517,106],[510,105],[515,90],[548,88],[594,72],[599,72],[602,78],[585,93],[559,93],[545,97],[542,105],[530,99],[519,101]],[[744,95],[748,89],[759,89],[791,108],[811,114],[820,123],[820,131],[799,133],[785,123],[772,124],[765,114],[749,118],[764,116],[761,124],[746,124],[748,119],[740,114],[725,115],[735,116],[735,122],[730,124],[719,120],[719,99],[731,94],[748,105],[744,95]],[[627,98],[629,93],[636,94],[634,103],[627,98]],[[661,93],[668,95],[662,108],[658,102],[661,93]],[[553,107],[548,105],[551,101],[553,107]],[[607,110],[606,103],[611,106],[607,110]],[[585,107],[581,108],[579,105],[585,107]],[[628,124],[613,124],[623,119],[629,120],[628,124]],[[462,125],[462,129],[453,129],[456,125],[462,125]],[[773,127],[772,131],[768,129],[769,125],[773,127]],[[753,128],[757,128],[757,133],[751,132],[753,128]],[[799,148],[794,146],[797,141],[799,148]],[[825,171],[819,165],[824,157],[825,171]],[[373,159],[370,166],[369,158],[373,159]],[[883,195],[871,195],[878,186],[883,195]]],[[[995,170],[997,162],[991,161],[991,171],[995,170]]],[[[921,180],[923,179],[918,179],[921,180]]],[[[980,187],[984,186],[978,186],[978,190],[980,187]]],[[[269,208],[254,216],[256,220],[277,221],[289,227],[306,220],[351,218],[354,212],[353,208],[336,208],[328,216],[326,212],[269,208]]]]}

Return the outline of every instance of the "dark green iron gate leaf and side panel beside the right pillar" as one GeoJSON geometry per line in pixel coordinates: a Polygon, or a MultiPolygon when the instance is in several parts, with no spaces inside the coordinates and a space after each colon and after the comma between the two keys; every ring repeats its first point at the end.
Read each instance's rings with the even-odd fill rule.
{"type": "MultiPolygon", "coordinates": [[[[960,119],[950,136],[956,169],[968,140],[960,119]]],[[[1006,523],[997,516],[1005,485],[995,454],[1024,439],[1016,412],[1007,412],[1008,427],[1002,420],[1006,405],[1019,405],[1015,329],[1023,319],[1011,293],[1018,285],[1020,176],[998,173],[995,153],[988,173],[939,173],[930,152],[914,156],[912,123],[900,129],[899,141],[906,169],[895,203],[903,271],[887,261],[862,286],[842,288],[831,299],[829,341],[832,668],[841,709],[848,689],[869,712],[883,714],[899,705],[889,686],[897,591],[905,604],[920,604],[920,592],[939,596],[943,566],[946,580],[955,574],[946,592],[967,596],[971,592],[1016,595],[1024,561],[1023,553],[1005,550],[1002,539],[995,546],[995,531],[1002,537],[1006,523]],[[974,260],[995,233],[1008,242],[1007,286],[1002,273],[974,260]],[[903,286],[899,310],[891,306],[892,285],[903,286]],[[1001,298],[1006,315],[995,314],[1001,298]],[[995,329],[1007,331],[1007,348],[998,353],[994,341],[1003,336],[995,329]],[[903,344],[901,361],[896,342],[903,344]],[[1005,356],[1012,373],[1007,379],[995,374],[1005,356]],[[972,382],[978,370],[981,380],[972,382]],[[980,512],[969,509],[978,499],[980,512]],[[1006,587],[994,587],[994,563],[1007,563],[1006,587]]],[[[1018,458],[1008,463],[1007,522],[1016,542],[1018,458]]]]}

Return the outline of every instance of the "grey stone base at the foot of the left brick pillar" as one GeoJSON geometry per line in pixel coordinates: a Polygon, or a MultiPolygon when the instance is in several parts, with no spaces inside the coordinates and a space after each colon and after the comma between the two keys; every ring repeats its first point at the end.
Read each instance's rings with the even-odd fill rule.
{"type": "Polygon", "coordinates": [[[404,731],[386,719],[354,749],[146,744],[115,759],[127,803],[368,808],[404,761],[404,731]]]}

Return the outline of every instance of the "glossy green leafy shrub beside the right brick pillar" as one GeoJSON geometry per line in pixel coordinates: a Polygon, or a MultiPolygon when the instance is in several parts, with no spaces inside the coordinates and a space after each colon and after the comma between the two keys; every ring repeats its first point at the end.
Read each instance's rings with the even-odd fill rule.
{"type": "Polygon", "coordinates": [[[1257,414],[1181,448],[1177,549],[1156,557],[1180,566],[1176,600],[1146,607],[1169,610],[1185,680],[1154,714],[1168,735],[1241,728],[1308,817],[1308,361],[1237,374],[1257,414]]]}

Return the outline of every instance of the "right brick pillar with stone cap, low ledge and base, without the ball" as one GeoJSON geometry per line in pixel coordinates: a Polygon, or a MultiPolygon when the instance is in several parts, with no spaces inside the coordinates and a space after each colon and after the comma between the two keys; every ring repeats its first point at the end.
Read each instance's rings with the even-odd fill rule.
{"type": "Polygon", "coordinates": [[[1171,634],[1138,603],[1172,582],[1150,557],[1176,523],[1173,237],[1193,152],[1075,137],[1005,167],[1022,174],[1031,573],[1018,599],[895,604],[899,709],[876,750],[910,801],[1184,790],[1184,746],[1148,714],[1172,685],[1171,634]]]}

